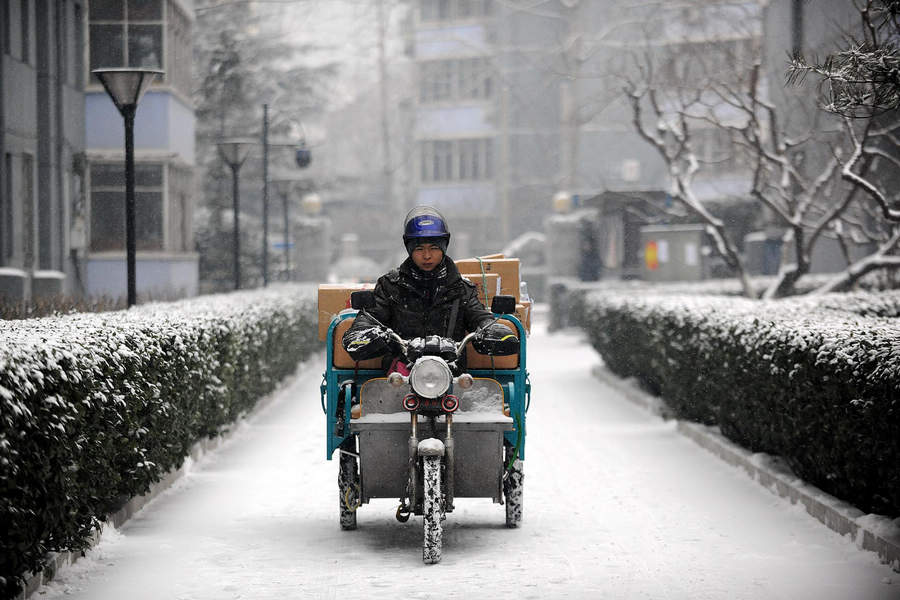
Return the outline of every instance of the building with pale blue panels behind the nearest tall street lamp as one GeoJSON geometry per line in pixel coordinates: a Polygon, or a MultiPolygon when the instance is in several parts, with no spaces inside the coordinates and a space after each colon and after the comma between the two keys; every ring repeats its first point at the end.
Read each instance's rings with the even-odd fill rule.
{"type": "MultiPolygon", "coordinates": [[[[88,23],[89,70],[165,72],[135,116],[137,291],[145,298],[195,295],[193,7],[186,0],[91,0],[88,23]]],[[[85,288],[115,297],[125,280],[124,125],[96,76],[85,78],[88,192],[78,215],[85,288]]]]}

